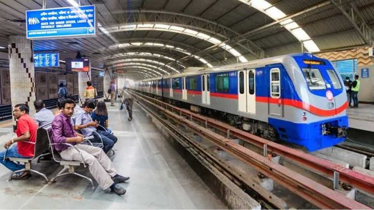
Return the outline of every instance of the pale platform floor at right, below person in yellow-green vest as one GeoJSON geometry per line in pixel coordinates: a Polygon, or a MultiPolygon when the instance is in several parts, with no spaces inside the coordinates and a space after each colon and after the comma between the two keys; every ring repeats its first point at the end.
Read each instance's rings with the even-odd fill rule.
{"type": "Polygon", "coordinates": [[[349,127],[374,132],[374,105],[359,104],[358,108],[348,108],[349,127]]]}

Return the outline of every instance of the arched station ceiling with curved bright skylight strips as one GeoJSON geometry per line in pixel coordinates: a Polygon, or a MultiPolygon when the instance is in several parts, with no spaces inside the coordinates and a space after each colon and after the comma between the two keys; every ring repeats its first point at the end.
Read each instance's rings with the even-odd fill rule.
{"type": "MultiPolygon", "coordinates": [[[[184,67],[232,64],[302,50],[349,49],[367,46],[374,40],[372,0],[80,2],[82,5],[96,5],[98,36],[34,41],[34,50],[57,51],[62,60],[81,52],[92,58],[95,68],[136,63],[141,65],[135,66],[153,70],[142,69],[144,71],[139,73],[139,77],[136,72],[140,68],[126,70],[126,74],[134,78],[173,74],[183,71],[184,67]],[[128,59],[138,61],[125,62],[128,59]],[[151,64],[147,59],[158,63],[151,64]]],[[[41,9],[42,3],[43,0],[0,0],[0,24],[3,27],[0,47],[7,46],[7,36],[25,34],[24,24],[13,20],[24,19],[25,10],[41,9]]],[[[47,8],[74,4],[77,0],[47,0],[47,8]]],[[[113,66],[122,71],[120,67],[113,66]]]]}

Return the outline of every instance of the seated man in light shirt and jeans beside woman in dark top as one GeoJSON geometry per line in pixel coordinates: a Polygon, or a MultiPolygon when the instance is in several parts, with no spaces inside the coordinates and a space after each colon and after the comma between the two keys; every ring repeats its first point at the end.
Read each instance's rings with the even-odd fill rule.
{"type": "Polygon", "coordinates": [[[86,101],[83,104],[84,112],[80,112],[77,114],[75,119],[75,130],[81,130],[82,134],[86,137],[93,135],[93,139],[91,142],[101,143],[100,137],[102,139],[102,143],[104,147],[102,148],[105,153],[109,152],[111,148],[113,148],[114,143],[117,142],[117,137],[111,135],[108,132],[98,132],[96,127],[98,126],[98,122],[93,122],[90,113],[95,108],[95,105],[92,101],[86,101]],[[98,136],[95,132],[98,132],[100,136],[98,136]]]}

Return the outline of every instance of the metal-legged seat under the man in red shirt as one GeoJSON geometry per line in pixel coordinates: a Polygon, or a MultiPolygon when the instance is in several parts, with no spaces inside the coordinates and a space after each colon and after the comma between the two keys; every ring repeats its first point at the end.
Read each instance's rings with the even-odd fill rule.
{"type": "Polygon", "coordinates": [[[15,173],[28,171],[28,172],[34,172],[34,173],[39,174],[40,176],[43,176],[47,180],[47,182],[48,182],[48,178],[47,178],[47,176],[44,173],[38,172],[37,170],[34,170],[34,169],[31,169],[31,161],[32,160],[34,160],[35,158],[38,158],[41,155],[47,155],[47,154],[49,154],[49,153],[45,153],[45,151],[47,151],[48,148],[49,148],[49,139],[48,139],[48,136],[43,133],[44,130],[45,129],[43,127],[40,127],[37,130],[36,141],[35,142],[24,141],[26,143],[31,143],[31,144],[35,145],[35,147],[34,147],[34,156],[33,157],[29,157],[29,158],[6,157],[6,153],[7,153],[8,149],[10,148],[10,146],[8,146],[8,148],[6,149],[5,154],[4,154],[4,160],[7,159],[7,160],[10,160],[10,161],[20,162],[20,163],[24,163],[25,164],[25,168],[24,169],[17,170],[17,171],[14,171],[14,172],[10,173],[8,181],[12,180],[12,176],[15,173]]]}

